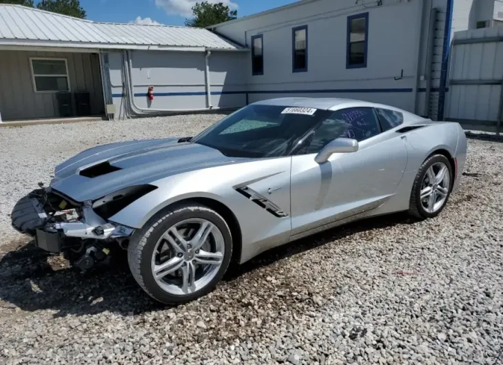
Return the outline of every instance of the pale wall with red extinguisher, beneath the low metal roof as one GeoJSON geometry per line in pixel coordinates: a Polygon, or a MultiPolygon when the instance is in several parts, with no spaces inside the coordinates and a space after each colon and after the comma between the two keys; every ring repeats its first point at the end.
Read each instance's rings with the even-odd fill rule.
{"type": "MultiPolygon", "coordinates": [[[[175,51],[132,51],[134,103],[142,109],[193,110],[207,107],[205,53],[175,51]],[[147,98],[154,86],[154,101],[147,98]]],[[[238,108],[246,105],[245,68],[247,52],[214,51],[209,56],[212,107],[238,108]]],[[[114,118],[127,117],[123,99],[122,53],[111,52],[110,82],[116,107],[114,118]]]]}

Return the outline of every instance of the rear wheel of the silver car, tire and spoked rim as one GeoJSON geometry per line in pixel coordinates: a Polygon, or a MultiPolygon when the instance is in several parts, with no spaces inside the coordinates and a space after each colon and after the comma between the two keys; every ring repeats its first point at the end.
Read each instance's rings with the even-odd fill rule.
{"type": "Polygon", "coordinates": [[[452,167],[441,154],[429,157],[418,171],[411,191],[409,213],[433,218],[444,209],[452,189],[452,167]]]}

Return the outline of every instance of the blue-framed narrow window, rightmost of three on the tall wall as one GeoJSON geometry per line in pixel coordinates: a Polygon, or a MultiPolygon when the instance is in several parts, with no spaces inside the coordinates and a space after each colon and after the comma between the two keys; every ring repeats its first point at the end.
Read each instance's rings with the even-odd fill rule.
{"type": "Polygon", "coordinates": [[[367,67],[369,13],[347,18],[347,68],[367,67]]]}

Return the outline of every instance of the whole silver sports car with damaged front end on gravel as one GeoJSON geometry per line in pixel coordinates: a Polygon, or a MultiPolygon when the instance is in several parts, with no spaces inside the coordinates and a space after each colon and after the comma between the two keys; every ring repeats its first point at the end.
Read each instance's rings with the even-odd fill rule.
{"type": "Polygon", "coordinates": [[[87,149],[17,202],[12,225],[82,271],[125,249],[143,290],[175,304],[214,289],[230,262],[312,233],[397,211],[433,218],[465,160],[458,123],[277,98],[198,136],[87,149]]]}

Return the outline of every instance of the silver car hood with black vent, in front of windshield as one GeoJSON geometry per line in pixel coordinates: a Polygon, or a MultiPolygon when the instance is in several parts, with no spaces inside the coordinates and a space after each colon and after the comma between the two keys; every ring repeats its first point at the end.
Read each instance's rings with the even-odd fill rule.
{"type": "Polygon", "coordinates": [[[84,202],[172,174],[242,160],[196,143],[178,143],[178,138],[132,140],[86,149],[66,160],[56,167],[50,186],[76,202],[84,202]],[[83,176],[96,165],[105,168],[94,177],[83,176]]]}

